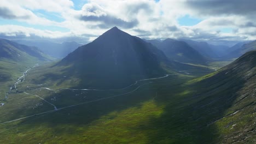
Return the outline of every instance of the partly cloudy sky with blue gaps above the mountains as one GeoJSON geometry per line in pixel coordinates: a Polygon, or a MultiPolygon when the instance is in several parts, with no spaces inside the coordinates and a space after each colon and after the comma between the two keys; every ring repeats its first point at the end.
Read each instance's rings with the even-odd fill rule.
{"type": "Polygon", "coordinates": [[[0,38],[77,41],[108,29],[144,39],[233,45],[256,39],[254,0],[1,0],[0,38]]]}

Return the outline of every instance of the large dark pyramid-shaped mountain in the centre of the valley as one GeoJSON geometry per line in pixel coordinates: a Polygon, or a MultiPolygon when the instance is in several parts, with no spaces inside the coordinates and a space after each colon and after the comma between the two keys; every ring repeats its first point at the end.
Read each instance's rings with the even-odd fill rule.
{"type": "Polygon", "coordinates": [[[162,59],[167,58],[152,44],[113,27],[69,53],[57,66],[68,66],[65,75],[78,77],[79,87],[122,88],[164,75],[162,59]]]}

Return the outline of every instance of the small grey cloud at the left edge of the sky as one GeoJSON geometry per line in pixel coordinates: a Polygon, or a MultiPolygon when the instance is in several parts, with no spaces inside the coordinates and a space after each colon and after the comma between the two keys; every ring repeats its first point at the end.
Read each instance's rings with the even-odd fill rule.
{"type": "Polygon", "coordinates": [[[30,19],[29,15],[16,16],[9,8],[0,7],[0,17],[4,19],[30,19]]]}

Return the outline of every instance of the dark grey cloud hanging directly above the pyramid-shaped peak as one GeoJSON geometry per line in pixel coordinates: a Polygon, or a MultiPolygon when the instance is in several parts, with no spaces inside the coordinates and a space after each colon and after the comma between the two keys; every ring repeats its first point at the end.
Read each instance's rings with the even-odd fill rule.
{"type": "Polygon", "coordinates": [[[102,25],[98,25],[100,28],[108,28],[113,26],[118,26],[122,28],[132,28],[138,25],[138,20],[124,21],[114,16],[102,15],[102,16],[80,16],[82,21],[94,21],[102,22],[102,25]]]}

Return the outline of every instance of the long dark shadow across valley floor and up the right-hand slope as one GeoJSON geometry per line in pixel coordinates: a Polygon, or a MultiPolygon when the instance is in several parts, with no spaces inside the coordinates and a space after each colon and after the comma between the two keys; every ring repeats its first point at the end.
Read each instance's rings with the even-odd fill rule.
{"type": "MultiPolygon", "coordinates": [[[[144,101],[154,99],[159,106],[165,105],[164,113],[158,118],[149,117],[147,124],[142,123],[141,127],[133,128],[138,132],[146,131],[148,143],[216,143],[220,136],[218,130],[214,124],[208,124],[224,116],[225,110],[236,99],[241,83],[244,83],[240,77],[226,77],[223,73],[194,85],[184,84],[185,80],[173,81],[180,77],[172,76],[166,81],[149,83],[136,92],[121,97],[48,113],[43,118],[27,122],[26,127],[38,127],[43,123],[49,125],[51,134],[54,135],[81,134],[86,130],[84,128],[89,128],[92,122],[110,112],[129,107],[139,108],[144,101]],[[186,91],[188,93],[184,93],[186,91]],[[80,127],[84,128],[79,129],[80,127]]],[[[136,86],[126,92],[135,88],[136,86]]],[[[57,94],[69,97],[65,91],[57,94]]],[[[24,120],[26,121],[27,119],[24,120]]],[[[19,132],[26,133],[26,130],[19,132]]]]}

